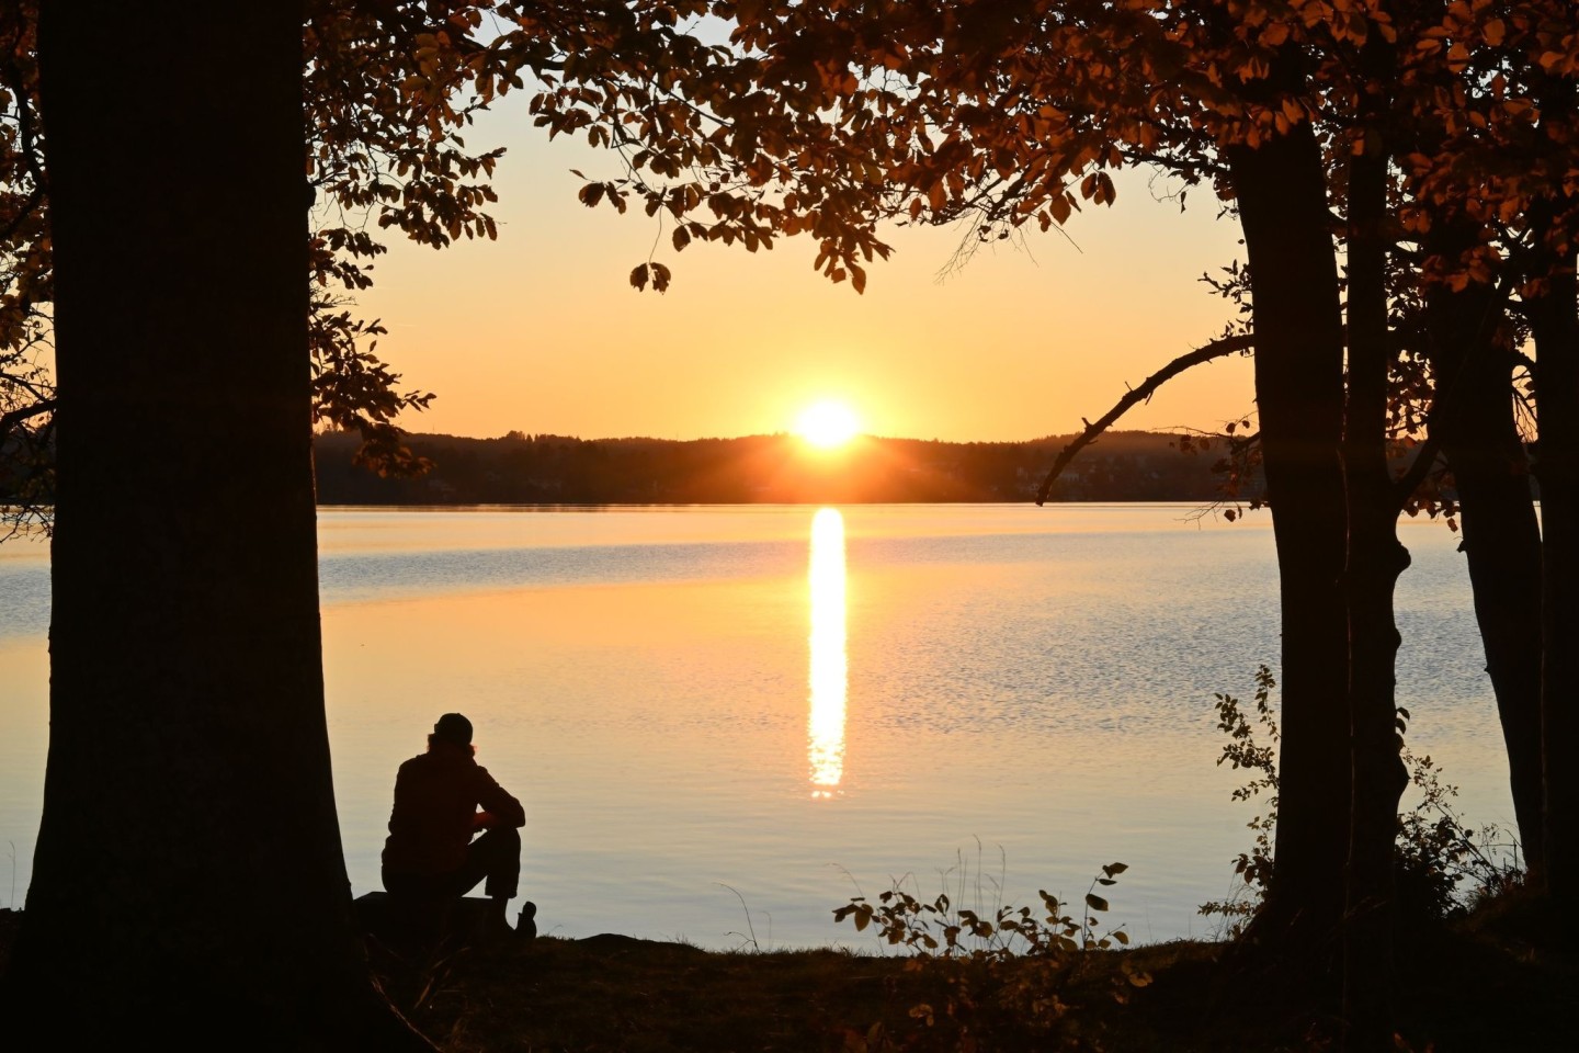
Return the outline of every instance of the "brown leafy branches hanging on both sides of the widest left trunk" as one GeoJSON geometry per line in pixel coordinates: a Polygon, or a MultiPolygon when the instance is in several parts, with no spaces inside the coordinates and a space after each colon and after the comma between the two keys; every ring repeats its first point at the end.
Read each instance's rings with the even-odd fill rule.
{"type": "MultiPolygon", "coordinates": [[[[47,502],[55,406],[36,17],[36,0],[0,6],[0,499],[35,508],[47,502]]],[[[303,46],[314,417],[358,431],[369,466],[422,470],[395,418],[433,395],[401,388],[374,354],[382,327],[349,298],[373,284],[384,238],[497,237],[488,208],[502,150],[467,145],[475,115],[549,74],[651,76],[684,41],[654,3],[309,0],[303,46]]],[[[662,272],[652,284],[666,284],[662,272]]]]}

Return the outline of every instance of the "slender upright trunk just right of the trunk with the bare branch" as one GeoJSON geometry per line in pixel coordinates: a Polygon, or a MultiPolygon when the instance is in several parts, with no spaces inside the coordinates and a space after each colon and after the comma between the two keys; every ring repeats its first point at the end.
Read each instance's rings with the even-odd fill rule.
{"type": "MultiPolygon", "coordinates": [[[[1366,47],[1367,55],[1372,47],[1366,47]]],[[[1397,541],[1399,500],[1388,470],[1386,409],[1391,350],[1386,308],[1386,153],[1348,163],[1348,395],[1344,489],[1348,554],[1348,721],[1353,764],[1344,1009],[1347,1048],[1391,1048],[1393,857],[1397,802],[1408,785],[1399,759],[1394,698],[1399,633],[1393,589],[1408,567],[1397,541]]]]}

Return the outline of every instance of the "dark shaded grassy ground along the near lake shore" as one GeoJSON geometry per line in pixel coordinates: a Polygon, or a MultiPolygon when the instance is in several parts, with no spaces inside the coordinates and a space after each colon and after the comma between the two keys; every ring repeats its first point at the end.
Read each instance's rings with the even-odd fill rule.
{"type": "MultiPolygon", "coordinates": [[[[0,911],[0,976],[17,919],[0,911]]],[[[1579,955],[1538,919],[1483,917],[1402,942],[1399,1048],[1576,1045],[1579,955]]],[[[1060,968],[717,954],[611,935],[422,961],[374,942],[371,957],[390,999],[447,1053],[1337,1048],[1336,1018],[1311,1010],[1306,985],[1232,944],[1093,952],[1060,968]]]]}

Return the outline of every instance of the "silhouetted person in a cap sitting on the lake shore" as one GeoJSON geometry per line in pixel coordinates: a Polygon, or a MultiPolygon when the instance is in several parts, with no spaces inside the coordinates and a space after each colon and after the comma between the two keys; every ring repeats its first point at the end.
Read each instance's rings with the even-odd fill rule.
{"type": "Polygon", "coordinates": [[[504,908],[521,876],[526,811],[474,753],[472,721],[444,714],[428,751],[399,766],[384,887],[414,917],[437,924],[452,903],[485,882],[488,927],[508,931],[504,908]],[[474,841],[477,830],[482,837],[474,841]]]}

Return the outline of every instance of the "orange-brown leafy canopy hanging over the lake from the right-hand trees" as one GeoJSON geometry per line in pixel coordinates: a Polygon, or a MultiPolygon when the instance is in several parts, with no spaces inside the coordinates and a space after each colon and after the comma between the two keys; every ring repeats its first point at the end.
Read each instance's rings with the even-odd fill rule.
{"type": "MultiPolygon", "coordinates": [[[[889,253],[883,223],[963,219],[982,240],[1045,230],[1112,204],[1112,174],[1131,164],[1175,177],[1181,204],[1210,183],[1233,207],[1230,148],[1312,128],[1336,171],[1375,145],[1353,112],[1372,33],[1399,63],[1386,120],[1405,144],[1407,281],[1486,283],[1574,223],[1530,213],[1566,194],[1568,155],[1532,141],[1573,139],[1571,107],[1543,107],[1579,68],[1557,0],[625,6],[633,33],[669,21],[668,57],[578,55],[543,74],[531,109],[549,136],[617,150],[624,177],[587,182],[583,204],[643,204],[674,224],[674,251],[805,234],[823,273],[864,287],[889,253]],[[1301,76],[1277,73],[1288,62],[1301,76]],[[1440,253],[1424,235],[1456,215],[1476,235],[1440,253]]],[[[1339,208],[1342,193],[1334,178],[1339,208]]],[[[1527,273],[1517,300],[1541,289],[1527,273]]]]}

